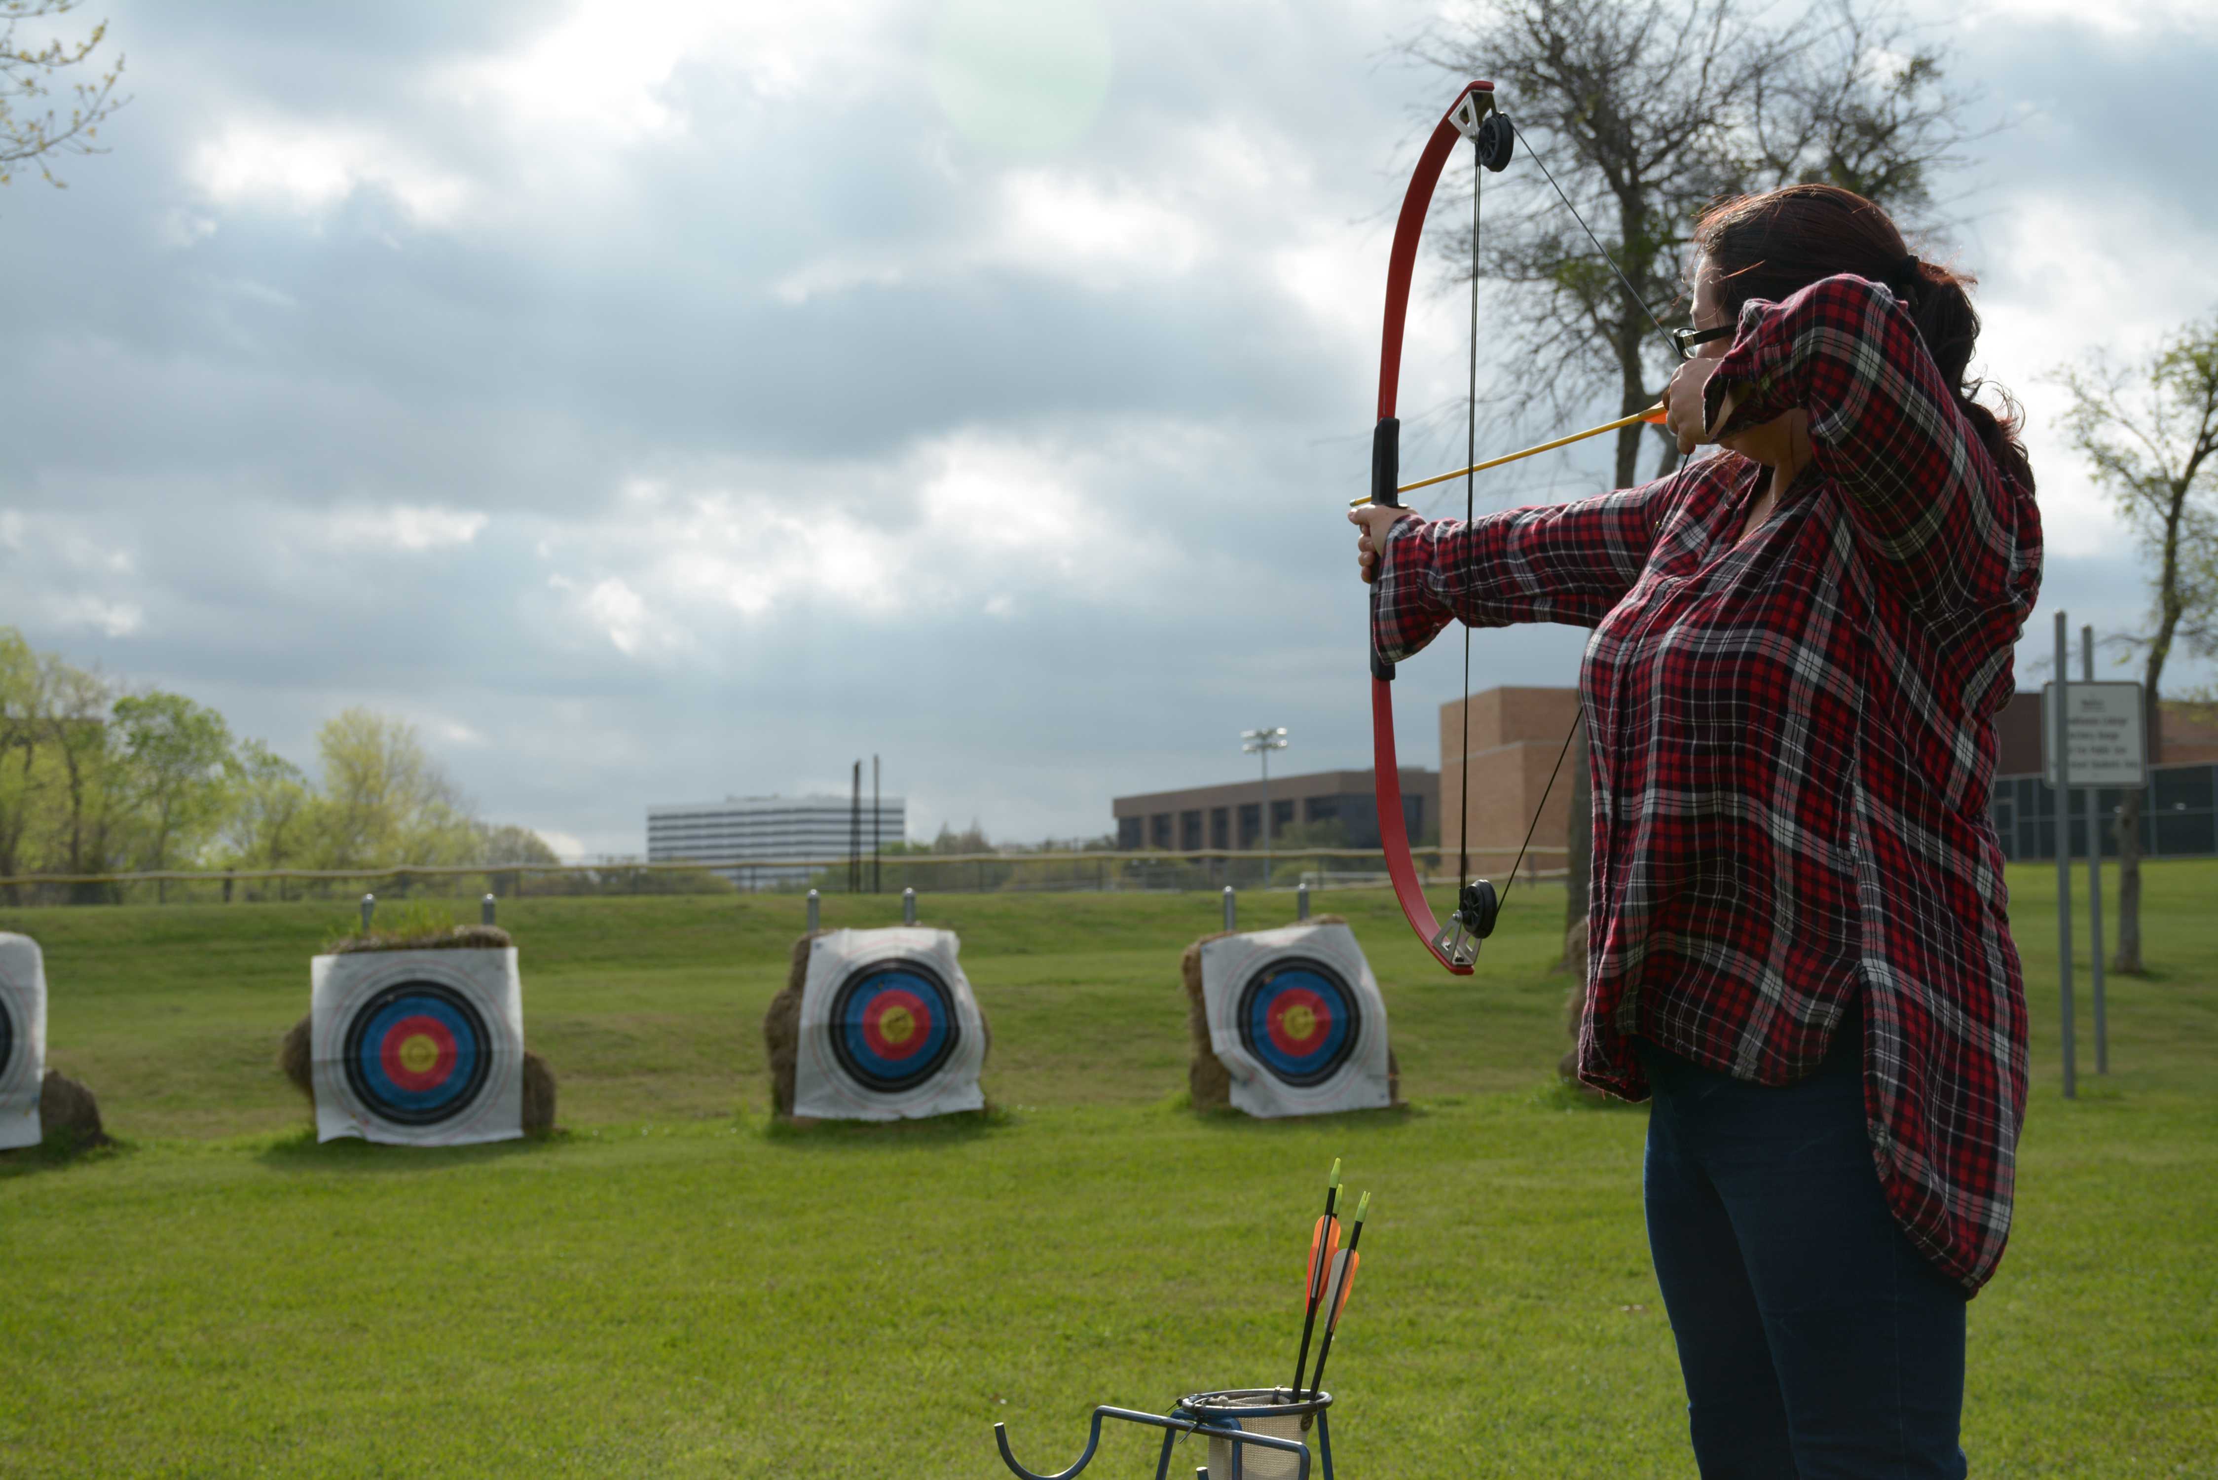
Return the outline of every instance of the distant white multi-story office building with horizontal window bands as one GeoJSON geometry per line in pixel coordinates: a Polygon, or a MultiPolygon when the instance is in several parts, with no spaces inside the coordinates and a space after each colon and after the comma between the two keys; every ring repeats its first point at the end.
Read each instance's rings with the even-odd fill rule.
{"type": "Polygon", "coordinates": [[[807,879],[807,868],[756,868],[747,859],[845,859],[852,845],[907,839],[901,797],[725,797],[648,808],[648,863],[703,863],[743,890],[774,890],[807,879]]]}

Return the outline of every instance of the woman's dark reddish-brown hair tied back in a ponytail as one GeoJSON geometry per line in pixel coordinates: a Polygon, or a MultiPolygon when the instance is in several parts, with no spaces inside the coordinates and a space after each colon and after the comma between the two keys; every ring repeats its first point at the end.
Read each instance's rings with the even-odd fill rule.
{"type": "Polygon", "coordinates": [[[1974,399],[1983,382],[1963,377],[1978,342],[1970,295],[1978,280],[1912,257],[1883,209],[1837,184],[1790,184],[1710,206],[1695,222],[1695,246],[1717,268],[1719,306],[1734,320],[1741,304],[1754,297],[1779,302],[1839,273],[1888,284],[1910,311],[1925,353],[1956,393],[1956,408],[1972,422],[1994,466],[2027,493],[2034,488],[2010,395],[1996,386],[2003,410],[1994,413],[1974,399]]]}

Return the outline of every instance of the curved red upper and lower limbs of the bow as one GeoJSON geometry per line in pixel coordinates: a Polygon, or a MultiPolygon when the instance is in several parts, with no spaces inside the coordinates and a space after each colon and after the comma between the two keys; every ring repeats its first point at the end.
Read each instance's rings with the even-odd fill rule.
{"type": "MultiPolygon", "coordinates": [[[[1384,508],[1400,508],[1397,479],[1402,473],[1402,422],[1395,417],[1395,397],[1402,388],[1402,328],[1408,322],[1408,288],[1417,266],[1417,240],[1424,235],[1424,217],[1433,204],[1433,186],[1446,166],[1455,142],[1466,133],[1477,138],[1479,122],[1493,113],[1495,84],[1466,82],[1464,91],[1442,113],[1433,135],[1417,155],[1417,169],[1408,178],[1402,195],[1402,215],[1393,229],[1393,251],[1386,257],[1386,326],[1380,337],[1380,419],[1371,435],[1371,501],[1384,508]]],[[[1408,852],[1408,823],[1402,812],[1402,770],[1395,761],[1393,743],[1393,663],[1377,652],[1377,590],[1373,601],[1371,639],[1371,774],[1380,812],[1380,850],[1386,854],[1386,874],[1393,879],[1402,916],[1448,972],[1471,974],[1471,956],[1442,945],[1439,921],[1424,899],[1424,883],[1417,879],[1417,861],[1408,852]]]]}

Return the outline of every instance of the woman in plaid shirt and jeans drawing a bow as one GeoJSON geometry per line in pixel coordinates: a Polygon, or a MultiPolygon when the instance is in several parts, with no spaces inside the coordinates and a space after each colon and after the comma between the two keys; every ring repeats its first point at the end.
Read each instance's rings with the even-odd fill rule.
{"type": "Polygon", "coordinates": [[[2034,477],[1965,384],[1970,280],[1879,206],[1788,186],[1695,244],[1666,428],[1723,450],[1471,524],[1353,513],[1373,641],[1593,628],[1579,1076],[1652,1096],[1648,1243],[1706,1480],[1963,1476],[1965,1302],[2025,1112],[1987,792],[2034,477]]]}

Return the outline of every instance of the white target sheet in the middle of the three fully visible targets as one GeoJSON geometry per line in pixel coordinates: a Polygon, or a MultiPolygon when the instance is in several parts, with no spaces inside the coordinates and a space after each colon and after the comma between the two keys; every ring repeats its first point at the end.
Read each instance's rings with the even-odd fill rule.
{"type": "Polygon", "coordinates": [[[810,941],[794,1114],[914,1121],[985,1109],[985,1018],[952,930],[834,930],[810,941]]]}

